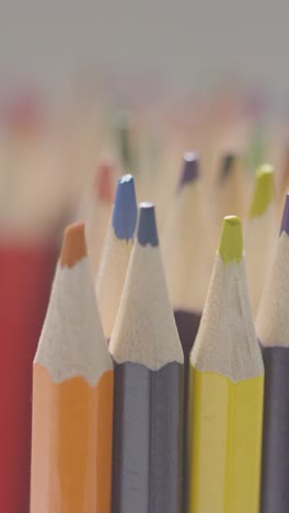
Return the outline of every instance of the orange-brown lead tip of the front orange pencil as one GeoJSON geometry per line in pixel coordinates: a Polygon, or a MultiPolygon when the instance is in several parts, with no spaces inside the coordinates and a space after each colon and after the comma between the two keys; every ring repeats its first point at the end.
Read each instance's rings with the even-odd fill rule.
{"type": "Polygon", "coordinates": [[[76,223],[66,228],[61,253],[60,265],[73,267],[81,259],[86,256],[86,243],[84,236],[84,224],[76,223]]]}

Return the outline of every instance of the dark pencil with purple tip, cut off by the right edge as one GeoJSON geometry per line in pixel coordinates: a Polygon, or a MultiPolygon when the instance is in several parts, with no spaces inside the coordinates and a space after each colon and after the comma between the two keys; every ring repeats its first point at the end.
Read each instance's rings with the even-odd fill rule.
{"type": "Polygon", "coordinates": [[[256,330],[265,363],[262,513],[289,504],[289,195],[256,330]]]}

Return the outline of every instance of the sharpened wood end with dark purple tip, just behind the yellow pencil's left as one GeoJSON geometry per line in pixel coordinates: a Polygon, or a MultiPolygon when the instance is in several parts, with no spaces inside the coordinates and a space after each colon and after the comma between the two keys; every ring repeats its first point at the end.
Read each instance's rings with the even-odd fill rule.
{"type": "Polygon", "coordinates": [[[207,283],[204,213],[200,197],[198,157],[184,156],[182,175],[174,201],[169,206],[162,236],[164,270],[174,310],[200,312],[207,283]]]}

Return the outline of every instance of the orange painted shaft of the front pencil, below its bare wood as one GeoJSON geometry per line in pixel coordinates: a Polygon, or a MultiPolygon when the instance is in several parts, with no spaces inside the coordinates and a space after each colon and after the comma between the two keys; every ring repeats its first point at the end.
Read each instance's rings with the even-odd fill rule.
{"type": "Polygon", "coordinates": [[[32,513],[111,513],[113,371],[55,384],[34,365],[32,513]],[[100,466],[99,461],[102,461],[100,466]]]}

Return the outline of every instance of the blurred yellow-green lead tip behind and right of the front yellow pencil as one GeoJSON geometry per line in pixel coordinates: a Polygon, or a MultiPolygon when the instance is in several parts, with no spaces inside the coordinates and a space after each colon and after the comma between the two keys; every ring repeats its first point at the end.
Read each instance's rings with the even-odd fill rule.
{"type": "Polygon", "coordinates": [[[274,200],[274,169],[270,164],[261,166],[255,175],[253,198],[248,217],[261,216],[274,200]]]}

